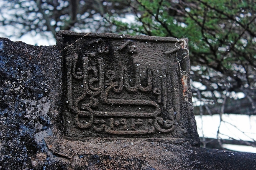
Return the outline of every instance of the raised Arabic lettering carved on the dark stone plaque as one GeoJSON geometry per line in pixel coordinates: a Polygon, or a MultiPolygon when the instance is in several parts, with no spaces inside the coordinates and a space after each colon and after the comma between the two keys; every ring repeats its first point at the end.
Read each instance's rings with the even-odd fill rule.
{"type": "Polygon", "coordinates": [[[166,90],[161,86],[166,77],[154,83],[159,70],[152,62],[134,61],[138,49],[132,41],[117,49],[102,39],[88,46],[90,52],[66,57],[67,106],[77,128],[115,135],[174,130],[178,107],[173,116],[161,116],[161,110],[167,110],[166,90]]]}

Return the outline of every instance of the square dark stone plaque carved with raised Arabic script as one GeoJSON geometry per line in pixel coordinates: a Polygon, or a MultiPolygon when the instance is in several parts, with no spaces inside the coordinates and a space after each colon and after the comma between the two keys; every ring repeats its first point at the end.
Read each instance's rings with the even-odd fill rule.
{"type": "Polygon", "coordinates": [[[190,138],[187,39],[58,32],[67,138],[190,138]]]}

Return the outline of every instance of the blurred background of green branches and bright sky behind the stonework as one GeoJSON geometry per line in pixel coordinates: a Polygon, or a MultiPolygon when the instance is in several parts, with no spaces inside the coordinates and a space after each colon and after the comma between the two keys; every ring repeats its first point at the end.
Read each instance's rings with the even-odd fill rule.
{"type": "Polygon", "coordinates": [[[0,37],[59,30],[189,38],[202,147],[256,153],[256,0],[0,0],[0,37]]]}

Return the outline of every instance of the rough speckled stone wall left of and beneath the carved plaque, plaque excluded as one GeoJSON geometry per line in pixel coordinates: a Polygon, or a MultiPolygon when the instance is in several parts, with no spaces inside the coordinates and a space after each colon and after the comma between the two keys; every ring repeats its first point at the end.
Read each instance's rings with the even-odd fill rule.
{"type": "Polygon", "coordinates": [[[61,48],[0,38],[0,169],[256,169],[256,154],[200,148],[195,129],[186,138],[67,138],[61,48]]]}

